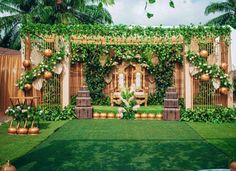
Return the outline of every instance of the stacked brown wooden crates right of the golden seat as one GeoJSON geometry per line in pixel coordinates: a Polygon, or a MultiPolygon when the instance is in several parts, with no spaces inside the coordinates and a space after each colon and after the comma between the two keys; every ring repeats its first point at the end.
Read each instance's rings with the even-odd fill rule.
{"type": "Polygon", "coordinates": [[[169,87],[164,98],[164,120],[179,120],[180,107],[175,87],[169,87]]]}

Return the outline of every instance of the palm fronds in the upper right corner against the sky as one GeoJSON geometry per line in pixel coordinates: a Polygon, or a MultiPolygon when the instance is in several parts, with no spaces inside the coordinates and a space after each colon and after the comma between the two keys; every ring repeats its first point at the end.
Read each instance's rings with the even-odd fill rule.
{"type": "Polygon", "coordinates": [[[236,0],[214,2],[205,9],[206,15],[216,12],[223,12],[224,14],[210,20],[207,24],[230,25],[236,28],[236,0]]]}

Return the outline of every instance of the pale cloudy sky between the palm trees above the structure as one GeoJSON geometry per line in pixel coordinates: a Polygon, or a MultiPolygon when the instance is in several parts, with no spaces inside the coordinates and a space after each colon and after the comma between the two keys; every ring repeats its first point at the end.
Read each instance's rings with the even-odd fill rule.
{"type": "MultiPolygon", "coordinates": [[[[156,0],[157,3],[149,5],[148,12],[154,17],[148,19],[144,9],[146,0],[115,0],[115,5],[108,6],[114,24],[143,25],[143,26],[174,26],[189,24],[205,24],[220,13],[204,14],[206,6],[211,2],[222,0],[173,0],[175,8],[169,7],[169,0],[156,0]]],[[[236,33],[233,34],[235,49],[232,52],[232,63],[236,66],[236,33]]],[[[236,67],[235,67],[236,69],[236,67]]]]}

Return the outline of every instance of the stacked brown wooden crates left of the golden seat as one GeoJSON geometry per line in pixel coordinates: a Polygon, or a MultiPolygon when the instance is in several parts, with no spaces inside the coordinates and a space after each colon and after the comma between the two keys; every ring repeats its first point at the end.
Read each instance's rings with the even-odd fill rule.
{"type": "Polygon", "coordinates": [[[75,113],[78,119],[91,119],[93,116],[90,93],[85,86],[80,88],[76,97],[75,113]]]}

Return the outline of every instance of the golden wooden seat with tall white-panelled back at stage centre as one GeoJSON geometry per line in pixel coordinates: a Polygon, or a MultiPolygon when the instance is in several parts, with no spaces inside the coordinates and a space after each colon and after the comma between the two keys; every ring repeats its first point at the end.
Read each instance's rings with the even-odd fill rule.
{"type": "Polygon", "coordinates": [[[132,64],[131,74],[128,73],[128,67],[131,64],[123,62],[118,68],[115,75],[115,86],[111,93],[111,106],[114,104],[120,105],[120,95],[124,88],[130,88],[131,85],[135,85],[135,98],[138,104],[144,104],[147,106],[148,100],[148,88],[145,87],[145,69],[140,64],[132,64]],[[131,75],[131,78],[129,78],[131,75]],[[129,81],[130,79],[130,81],[129,81]]]}

